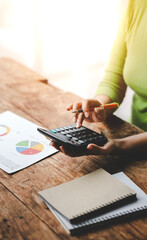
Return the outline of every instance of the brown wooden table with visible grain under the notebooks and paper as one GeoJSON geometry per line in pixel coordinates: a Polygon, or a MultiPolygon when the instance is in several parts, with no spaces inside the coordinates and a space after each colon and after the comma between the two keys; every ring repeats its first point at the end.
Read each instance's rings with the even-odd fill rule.
{"type": "MultiPolygon", "coordinates": [[[[47,84],[46,79],[11,59],[0,59],[0,113],[10,110],[46,128],[70,124],[71,114],[65,107],[80,98],[47,84]]],[[[112,116],[104,124],[108,137],[140,133],[137,127],[112,116]]],[[[109,173],[123,171],[147,192],[147,159],[124,156],[82,156],[71,158],[62,153],[48,157],[18,173],[0,170],[0,240],[104,240],[147,239],[145,216],[113,224],[78,237],[68,235],[38,192],[70,181],[98,168],[109,173]]]]}

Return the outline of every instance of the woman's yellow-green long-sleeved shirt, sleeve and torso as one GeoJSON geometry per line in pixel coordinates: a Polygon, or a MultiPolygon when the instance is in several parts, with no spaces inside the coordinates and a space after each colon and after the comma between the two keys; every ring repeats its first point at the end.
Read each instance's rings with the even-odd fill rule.
{"type": "Polygon", "coordinates": [[[147,131],[147,0],[130,0],[96,95],[121,103],[129,86],[135,92],[132,123],[147,131]]]}

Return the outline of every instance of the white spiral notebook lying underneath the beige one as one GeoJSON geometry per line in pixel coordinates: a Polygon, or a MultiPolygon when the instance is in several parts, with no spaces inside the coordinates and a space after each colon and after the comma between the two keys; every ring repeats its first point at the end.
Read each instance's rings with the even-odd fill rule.
{"type": "Polygon", "coordinates": [[[128,217],[134,217],[140,214],[147,213],[147,194],[145,194],[134,182],[132,182],[123,172],[116,173],[113,175],[116,179],[122,181],[124,184],[128,185],[137,193],[136,201],[130,202],[124,206],[117,209],[111,210],[105,214],[95,216],[94,218],[89,218],[86,221],[82,221],[78,224],[71,224],[66,217],[63,217],[55,209],[47,204],[49,209],[62,224],[64,229],[72,234],[76,235],[83,231],[88,231],[101,226],[106,226],[112,222],[118,222],[119,220],[127,219],[128,217]]]}

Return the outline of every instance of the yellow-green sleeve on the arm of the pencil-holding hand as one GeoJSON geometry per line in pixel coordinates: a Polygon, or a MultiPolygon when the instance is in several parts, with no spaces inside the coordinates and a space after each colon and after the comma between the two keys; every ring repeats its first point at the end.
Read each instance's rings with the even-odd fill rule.
{"type": "Polygon", "coordinates": [[[123,67],[126,58],[125,42],[125,17],[114,41],[109,62],[107,64],[103,80],[99,84],[95,96],[107,95],[112,101],[121,103],[126,92],[126,84],[123,79],[123,67]]]}

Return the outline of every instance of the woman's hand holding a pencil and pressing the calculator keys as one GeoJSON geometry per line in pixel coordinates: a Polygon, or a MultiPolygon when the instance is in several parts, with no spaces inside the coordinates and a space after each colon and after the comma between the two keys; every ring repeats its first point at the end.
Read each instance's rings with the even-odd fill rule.
{"type": "Polygon", "coordinates": [[[67,111],[82,109],[83,113],[73,113],[73,122],[80,128],[83,120],[87,122],[103,122],[106,118],[105,110],[97,99],[85,99],[82,102],[76,102],[67,106],[67,111]],[[91,110],[93,109],[93,110],[91,110]]]}

